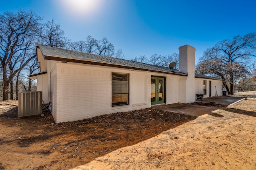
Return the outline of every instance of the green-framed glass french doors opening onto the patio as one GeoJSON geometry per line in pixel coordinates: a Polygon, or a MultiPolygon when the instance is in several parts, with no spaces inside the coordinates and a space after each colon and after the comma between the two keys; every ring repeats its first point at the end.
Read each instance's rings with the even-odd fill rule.
{"type": "Polygon", "coordinates": [[[165,101],[165,83],[162,77],[151,77],[151,105],[163,104],[165,101]]]}

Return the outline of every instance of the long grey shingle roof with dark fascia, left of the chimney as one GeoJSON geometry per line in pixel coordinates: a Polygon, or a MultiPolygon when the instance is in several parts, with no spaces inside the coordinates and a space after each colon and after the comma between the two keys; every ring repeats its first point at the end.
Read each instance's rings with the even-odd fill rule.
{"type": "MultiPolygon", "coordinates": [[[[103,55],[96,55],[96,54],[90,54],[90,53],[84,53],[79,51],[73,51],[68,49],[62,49],[58,47],[51,47],[50,45],[41,45],[36,44],[38,48],[40,48],[42,54],[44,55],[45,59],[50,59],[51,57],[59,57],[61,59],[75,59],[76,61],[90,61],[92,64],[95,63],[105,63],[105,64],[111,64],[111,66],[116,67],[122,67],[127,66],[127,68],[133,68],[133,69],[143,69],[148,71],[157,71],[157,72],[166,72],[168,74],[179,74],[182,76],[187,76],[187,74],[184,74],[182,72],[179,72],[178,70],[170,70],[168,67],[163,66],[156,66],[152,64],[146,64],[146,63],[139,63],[135,61],[125,60],[125,59],[118,59],[114,57],[107,57],[103,55]]],[[[59,61],[62,61],[58,59],[59,61]]],[[[76,62],[73,60],[73,62],[76,62]]],[[[77,63],[81,63],[78,62],[77,63]]]]}

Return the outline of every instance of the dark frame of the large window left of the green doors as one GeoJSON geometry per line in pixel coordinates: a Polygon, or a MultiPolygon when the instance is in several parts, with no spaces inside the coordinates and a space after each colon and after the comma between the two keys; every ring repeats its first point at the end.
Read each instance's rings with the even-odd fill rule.
{"type": "Polygon", "coordinates": [[[112,88],[112,90],[111,90],[111,96],[112,96],[112,100],[111,100],[111,106],[112,107],[116,107],[116,106],[124,106],[124,105],[129,105],[130,104],[130,74],[129,73],[124,73],[124,72],[111,72],[111,88],[112,88]],[[127,85],[128,85],[128,87],[127,87],[127,90],[128,90],[128,92],[126,92],[126,93],[114,93],[113,92],[113,74],[125,74],[125,75],[127,75],[127,85]],[[113,95],[122,95],[122,94],[127,94],[127,103],[124,103],[124,102],[118,102],[118,103],[120,103],[120,104],[115,104],[115,103],[113,103],[113,95]],[[114,104],[114,105],[113,105],[114,104]]]}

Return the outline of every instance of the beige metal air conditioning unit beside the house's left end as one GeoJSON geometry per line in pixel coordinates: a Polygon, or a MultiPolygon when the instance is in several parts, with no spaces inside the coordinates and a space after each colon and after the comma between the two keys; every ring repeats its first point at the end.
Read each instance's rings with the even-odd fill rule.
{"type": "Polygon", "coordinates": [[[42,114],[42,92],[18,93],[18,117],[42,114]]]}

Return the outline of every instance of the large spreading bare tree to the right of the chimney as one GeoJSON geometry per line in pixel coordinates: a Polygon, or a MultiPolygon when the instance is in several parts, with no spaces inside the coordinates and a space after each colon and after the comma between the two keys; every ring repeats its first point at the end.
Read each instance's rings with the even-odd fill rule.
{"type": "Polygon", "coordinates": [[[206,49],[196,67],[199,74],[210,74],[227,80],[223,82],[228,94],[233,94],[234,83],[245,77],[254,66],[251,57],[256,56],[256,34],[249,33],[232,40],[223,40],[206,49]]]}

